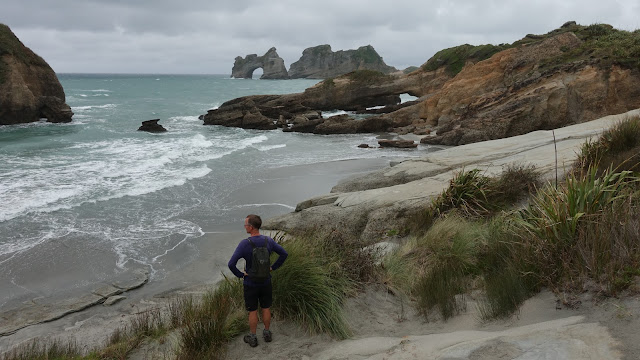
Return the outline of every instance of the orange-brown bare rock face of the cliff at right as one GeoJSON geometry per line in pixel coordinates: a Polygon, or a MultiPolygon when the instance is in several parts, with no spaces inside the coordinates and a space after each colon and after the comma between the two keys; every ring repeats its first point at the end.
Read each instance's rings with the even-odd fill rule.
{"type": "Polygon", "coordinates": [[[424,143],[462,145],[554,129],[640,107],[640,71],[603,58],[548,66],[583,44],[573,32],[467,66],[420,106],[424,143]]]}

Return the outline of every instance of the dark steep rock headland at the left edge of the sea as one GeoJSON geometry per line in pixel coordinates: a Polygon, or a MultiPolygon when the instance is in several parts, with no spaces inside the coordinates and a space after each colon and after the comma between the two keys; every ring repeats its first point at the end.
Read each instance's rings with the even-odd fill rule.
{"type": "Polygon", "coordinates": [[[0,125],[70,122],[72,115],[53,69],[0,24],[0,125]]]}

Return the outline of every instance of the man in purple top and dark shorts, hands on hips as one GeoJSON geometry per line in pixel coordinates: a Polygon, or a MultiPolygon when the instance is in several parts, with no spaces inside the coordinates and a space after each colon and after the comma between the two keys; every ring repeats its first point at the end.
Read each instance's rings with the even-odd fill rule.
{"type": "Polygon", "coordinates": [[[249,238],[240,241],[236,251],[233,252],[231,259],[229,260],[229,269],[233,274],[241,279],[244,279],[244,304],[249,312],[249,331],[250,333],[245,335],[244,342],[248,343],[251,347],[258,346],[258,338],[256,337],[256,330],[258,328],[258,304],[262,308],[262,322],[264,323],[264,330],[262,331],[262,337],[264,341],[270,342],[272,339],[271,330],[271,275],[264,281],[252,279],[249,276],[249,272],[252,270],[252,255],[253,249],[256,247],[266,246],[269,254],[275,252],[278,254],[278,259],[270,267],[270,271],[279,268],[287,258],[287,252],[285,249],[276,243],[272,238],[260,235],[260,226],[262,226],[262,219],[258,215],[248,215],[244,219],[244,229],[249,238]],[[241,258],[245,261],[245,270],[240,271],[236,264],[241,258]]]}

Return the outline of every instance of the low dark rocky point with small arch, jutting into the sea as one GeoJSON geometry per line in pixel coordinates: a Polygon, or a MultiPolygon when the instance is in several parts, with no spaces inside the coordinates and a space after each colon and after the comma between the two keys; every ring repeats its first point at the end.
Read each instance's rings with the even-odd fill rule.
{"type": "Polygon", "coordinates": [[[288,95],[245,96],[225,102],[219,108],[201,115],[205,125],[222,125],[246,129],[309,132],[316,134],[344,134],[385,132],[425,121],[415,115],[418,102],[405,106],[399,94],[421,96],[449,79],[444,72],[384,75],[371,70],[359,70],[335,79],[325,80],[303,93],[288,95]],[[376,113],[394,111],[406,116],[376,116],[353,118],[339,116],[324,118],[322,111],[335,109],[364,110],[384,106],[376,113]],[[310,121],[307,121],[310,120],[310,121]]]}

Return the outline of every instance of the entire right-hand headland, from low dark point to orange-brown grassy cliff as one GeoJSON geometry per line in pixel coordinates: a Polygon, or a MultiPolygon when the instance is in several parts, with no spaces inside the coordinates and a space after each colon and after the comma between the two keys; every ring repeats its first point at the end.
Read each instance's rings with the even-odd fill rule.
{"type": "Polygon", "coordinates": [[[444,49],[409,74],[358,70],[303,93],[234,99],[201,118],[206,125],[317,134],[430,133],[422,143],[462,145],[638,108],[639,58],[640,32],[568,22],[513,44],[444,49]],[[401,94],[418,99],[400,104],[401,94]],[[372,116],[306,116],[328,110],[372,116]],[[238,121],[247,116],[251,121],[238,121]]]}

